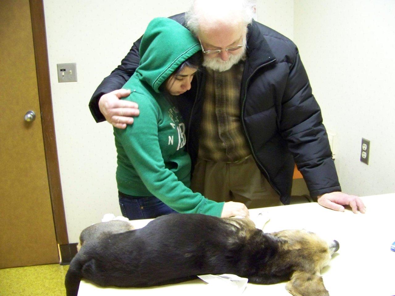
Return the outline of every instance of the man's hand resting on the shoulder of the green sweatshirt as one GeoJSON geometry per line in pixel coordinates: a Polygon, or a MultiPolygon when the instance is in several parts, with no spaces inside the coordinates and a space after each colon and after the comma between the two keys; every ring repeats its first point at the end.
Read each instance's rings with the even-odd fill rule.
{"type": "Polygon", "coordinates": [[[136,103],[120,100],[121,97],[129,95],[130,90],[122,88],[104,94],[99,99],[100,112],[110,124],[120,129],[126,128],[127,124],[132,124],[133,117],[140,113],[139,106],[136,103]]]}

